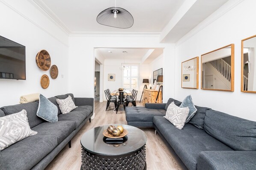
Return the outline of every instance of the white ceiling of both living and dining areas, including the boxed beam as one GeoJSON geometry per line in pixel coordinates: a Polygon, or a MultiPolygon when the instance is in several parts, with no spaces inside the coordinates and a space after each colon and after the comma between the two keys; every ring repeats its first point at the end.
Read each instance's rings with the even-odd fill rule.
{"type": "MultiPolygon", "coordinates": [[[[116,6],[126,9],[134,18],[131,28],[119,29],[103,26],[96,21],[101,11],[115,6],[115,0],[33,0],[68,34],[157,34],[161,43],[177,42],[227,1],[116,0],[116,6]]],[[[139,59],[143,64],[163,53],[163,49],[98,50],[105,59],[119,59],[125,50],[129,59],[139,59]]]]}

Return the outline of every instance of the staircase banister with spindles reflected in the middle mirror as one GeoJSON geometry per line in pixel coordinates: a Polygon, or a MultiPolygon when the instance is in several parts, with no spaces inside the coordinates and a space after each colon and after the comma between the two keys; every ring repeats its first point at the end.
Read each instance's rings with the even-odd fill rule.
{"type": "Polygon", "coordinates": [[[209,62],[227,81],[231,82],[231,66],[223,59],[216,59],[209,62]]]}

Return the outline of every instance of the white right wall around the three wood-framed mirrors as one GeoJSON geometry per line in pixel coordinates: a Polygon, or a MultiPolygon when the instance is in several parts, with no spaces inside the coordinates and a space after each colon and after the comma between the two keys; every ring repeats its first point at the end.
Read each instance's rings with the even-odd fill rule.
{"type": "MultiPolygon", "coordinates": [[[[255,6],[255,0],[241,1],[232,9],[226,5],[224,6],[226,9],[217,10],[177,43],[175,52],[175,98],[177,100],[182,101],[191,94],[195,105],[207,106],[214,110],[256,121],[255,109],[251,107],[255,105],[256,94],[240,91],[241,40],[256,34],[256,22],[252,22],[256,16],[255,6]],[[220,18],[217,18],[218,16],[220,18]],[[182,61],[232,43],[235,44],[234,92],[181,88],[182,61]]],[[[201,68],[199,67],[199,84],[200,79],[201,68]]]]}

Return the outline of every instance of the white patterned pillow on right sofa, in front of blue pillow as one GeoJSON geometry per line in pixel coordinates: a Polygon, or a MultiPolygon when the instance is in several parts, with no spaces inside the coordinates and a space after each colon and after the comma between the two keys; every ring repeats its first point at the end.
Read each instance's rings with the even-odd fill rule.
{"type": "Polygon", "coordinates": [[[179,106],[176,106],[174,102],[172,102],[166,111],[166,115],[164,118],[170,121],[170,123],[173,123],[174,126],[178,129],[182,129],[185,125],[186,118],[188,117],[189,108],[180,108],[179,106]]]}

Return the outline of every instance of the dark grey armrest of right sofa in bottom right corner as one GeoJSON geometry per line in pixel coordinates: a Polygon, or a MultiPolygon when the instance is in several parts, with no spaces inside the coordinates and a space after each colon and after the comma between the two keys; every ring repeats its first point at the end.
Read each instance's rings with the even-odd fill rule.
{"type": "Polygon", "coordinates": [[[255,170],[256,151],[203,151],[197,170],[255,170]]]}

